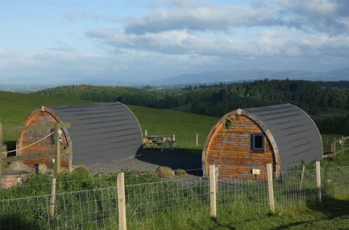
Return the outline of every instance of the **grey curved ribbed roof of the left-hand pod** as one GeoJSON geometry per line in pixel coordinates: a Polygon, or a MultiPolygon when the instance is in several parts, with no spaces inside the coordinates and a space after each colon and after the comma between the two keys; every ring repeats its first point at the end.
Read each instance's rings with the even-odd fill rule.
{"type": "Polygon", "coordinates": [[[107,102],[49,107],[70,123],[73,164],[91,165],[134,158],[142,148],[142,130],[126,105],[107,102]]]}

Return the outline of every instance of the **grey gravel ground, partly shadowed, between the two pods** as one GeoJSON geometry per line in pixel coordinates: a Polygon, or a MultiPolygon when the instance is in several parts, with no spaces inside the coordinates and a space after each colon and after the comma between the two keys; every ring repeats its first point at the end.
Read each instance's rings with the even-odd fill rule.
{"type": "Polygon", "coordinates": [[[104,164],[95,164],[87,166],[91,174],[98,172],[113,172],[113,171],[150,171],[154,172],[159,166],[170,167],[171,169],[188,170],[188,174],[195,176],[202,175],[201,170],[201,154],[186,153],[183,150],[160,150],[143,151],[143,154],[137,158],[124,161],[106,162],[104,164]]]}

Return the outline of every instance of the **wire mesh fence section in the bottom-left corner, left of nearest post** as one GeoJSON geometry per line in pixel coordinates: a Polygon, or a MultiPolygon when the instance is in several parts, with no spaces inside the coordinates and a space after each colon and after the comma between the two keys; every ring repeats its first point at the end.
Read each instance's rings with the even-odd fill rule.
{"type": "Polygon", "coordinates": [[[112,229],[116,187],[0,201],[0,229],[112,229]],[[50,210],[52,207],[52,210],[50,210]]]}

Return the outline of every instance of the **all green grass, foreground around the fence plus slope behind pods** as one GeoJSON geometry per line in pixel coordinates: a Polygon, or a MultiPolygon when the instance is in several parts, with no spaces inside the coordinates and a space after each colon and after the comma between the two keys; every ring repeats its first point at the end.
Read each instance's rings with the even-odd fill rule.
{"type": "MultiPolygon", "coordinates": [[[[5,108],[1,109],[0,121],[5,127],[21,125],[27,115],[40,105],[70,105],[91,102],[19,93],[0,92],[0,95],[0,105],[5,108]]],[[[138,106],[129,107],[135,113],[135,116],[138,117],[142,129],[147,129],[149,135],[175,134],[177,141],[179,141],[177,148],[185,148],[186,151],[192,151],[198,154],[201,153],[200,149],[207,133],[218,119],[163,109],[150,109],[138,106]],[[199,146],[195,146],[196,133],[199,134],[199,146]]],[[[341,136],[322,135],[324,149],[329,149],[330,142],[334,137],[338,139],[341,136]]],[[[15,135],[8,136],[6,137],[6,141],[14,143],[15,138],[15,135]]],[[[348,166],[348,162],[349,151],[346,151],[338,155],[334,160],[322,160],[321,165],[326,171],[326,168],[329,167],[348,166]]],[[[309,179],[313,178],[311,176],[313,175],[311,173],[313,171],[313,164],[307,164],[306,169],[309,169],[309,179]]],[[[348,170],[348,167],[338,170],[345,172],[345,170],[348,170]]],[[[295,176],[292,176],[293,172],[290,172],[290,178],[292,180],[298,180],[298,174],[299,171],[295,172],[295,176]]],[[[345,176],[345,174],[341,174],[341,171],[333,171],[333,174],[331,174],[333,178],[338,178],[339,175],[345,176]]],[[[97,215],[96,217],[94,216],[96,214],[94,208],[101,208],[101,206],[105,208],[105,205],[110,206],[110,203],[108,203],[110,199],[115,199],[114,197],[109,197],[110,194],[116,194],[114,176],[98,179],[93,178],[93,176],[84,171],[75,174],[59,174],[57,176],[57,181],[59,181],[57,194],[61,197],[57,197],[57,205],[61,207],[64,213],[57,213],[57,216],[55,215],[52,222],[49,223],[55,224],[57,221],[57,223],[68,224],[61,215],[72,215],[76,218],[75,222],[90,222],[91,220],[95,220],[94,218],[101,218],[97,215]],[[79,197],[79,199],[75,196],[79,197]],[[80,196],[85,197],[86,203],[80,200],[80,196]],[[98,201],[101,204],[96,203],[94,200],[96,197],[101,199],[98,201]],[[69,203],[70,201],[77,202],[75,204],[87,204],[87,207],[83,206],[86,208],[83,210],[88,215],[84,215],[86,213],[80,210],[81,206],[77,210],[67,208],[71,205],[69,203]],[[90,209],[91,207],[89,205],[92,209],[90,209]],[[76,215],[70,213],[73,211],[77,212],[76,215]],[[81,215],[81,220],[78,215],[81,215]]],[[[16,199],[18,204],[20,202],[24,202],[25,204],[33,202],[34,206],[40,204],[40,208],[44,207],[43,210],[45,210],[45,200],[49,200],[46,197],[50,196],[51,178],[51,175],[34,175],[24,186],[1,191],[0,204],[2,200],[3,203],[1,205],[6,207],[7,204],[4,199],[16,199]],[[31,198],[25,198],[28,196],[31,196],[31,198]]],[[[293,184],[294,181],[292,180],[290,186],[299,185],[298,181],[293,184]]],[[[343,177],[343,181],[345,180],[343,177]]],[[[292,193],[294,191],[293,187],[287,187],[286,184],[286,187],[283,187],[282,183],[276,185],[276,191],[279,191],[279,193],[276,192],[276,197],[279,196],[280,208],[273,215],[267,211],[265,198],[260,199],[259,197],[265,197],[265,187],[262,184],[253,185],[246,183],[245,186],[242,183],[239,185],[241,190],[231,190],[229,188],[228,190],[224,190],[224,187],[220,187],[218,188],[218,217],[211,219],[209,218],[209,205],[207,204],[209,196],[207,184],[205,181],[198,181],[200,181],[198,177],[185,178],[182,183],[188,187],[180,187],[178,186],[179,181],[173,183],[171,181],[163,181],[154,174],[144,174],[142,176],[134,173],[126,174],[129,229],[163,229],[164,226],[168,226],[170,229],[346,229],[349,226],[348,192],[331,197],[324,195],[324,201],[321,205],[316,204],[313,199],[304,201],[302,196],[310,195],[309,198],[312,197],[312,182],[307,184],[310,187],[305,187],[301,194],[297,194],[297,192],[292,193]],[[137,191],[140,190],[143,191],[142,194],[144,196],[138,195],[137,191]],[[254,193],[251,193],[253,191],[254,193]],[[284,191],[289,193],[283,194],[284,191]],[[299,201],[297,200],[298,195],[300,198],[299,201]],[[296,199],[295,201],[292,200],[292,196],[296,199]],[[180,197],[180,199],[177,197],[180,197]],[[295,204],[300,202],[300,205],[297,205],[297,208],[293,207],[293,202],[295,204]]],[[[344,183],[342,187],[336,186],[341,185],[325,187],[325,191],[343,191],[343,186],[348,186],[348,183],[344,183]]],[[[19,220],[22,220],[23,223],[20,224],[24,225],[34,223],[34,220],[36,220],[36,216],[26,207],[22,206],[22,210],[17,210],[22,215],[22,219],[19,220]]],[[[98,227],[117,226],[117,217],[112,214],[116,213],[116,209],[114,208],[116,207],[110,206],[110,210],[103,210],[106,216],[105,219],[101,220],[102,225],[98,225],[98,227]]],[[[1,210],[3,213],[8,211],[7,209],[0,209],[0,214],[1,210]]],[[[58,210],[59,208],[57,207],[57,212],[58,210]]],[[[6,218],[0,220],[0,229],[1,224],[6,226],[6,224],[12,223],[13,219],[11,218],[13,217],[10,217],[8,220],[6,218]]],[[[40,216],[40,218],[38,223],[45,226],[45,217],[40,216]]],[[[98,229],[95,224],[94,221],[91,221],[91,226],[87,224],[84,227],[98,229]]],[[[28,226],[34,228],[40,227],[40,225],[35,224],[29,224],[28,226]]]]}

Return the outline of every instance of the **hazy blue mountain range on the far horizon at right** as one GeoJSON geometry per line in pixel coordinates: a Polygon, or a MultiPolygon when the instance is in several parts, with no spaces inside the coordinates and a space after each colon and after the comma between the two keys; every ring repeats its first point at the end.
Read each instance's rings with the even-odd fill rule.
{"type": "Polygon", "coordinates": [[[256,79],[302,79],[309,81],[349,80],[349,68],[329,72],[308,72],[302,70],[269,71],[240,70],[231,72],[202,72],[168,77],[156,81],[156,84],[205,84],[214,82],[244,82],[256,79]]]}

